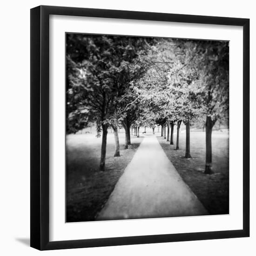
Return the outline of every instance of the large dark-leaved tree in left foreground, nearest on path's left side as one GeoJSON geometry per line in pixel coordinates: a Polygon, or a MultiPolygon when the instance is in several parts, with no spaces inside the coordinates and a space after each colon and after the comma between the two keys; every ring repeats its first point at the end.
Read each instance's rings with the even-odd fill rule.
{"type": "Polygon", "coordinates": [[[84,119],[93,113],[98,135],[102,131],[102,171],[108,127],[115,126],[116,130],[115,106],[130,86],[129,82],[135,79],[136,70],[141,70],[136,60],[147,54],[152,41],[139,37],[67,34],[67,60],[73,64],[73,72],[67,65],[67,105],[72,103],[72,108],[67,108],[67,115],[70,110],[74,113],[86,109],[84,119]]]}

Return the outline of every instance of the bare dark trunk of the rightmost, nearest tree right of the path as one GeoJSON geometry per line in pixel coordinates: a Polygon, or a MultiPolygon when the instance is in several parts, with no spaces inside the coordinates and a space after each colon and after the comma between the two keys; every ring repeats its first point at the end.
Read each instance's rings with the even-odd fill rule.
{"type": "Polygon", "coordinates": [[[213,174],[212,170],[212,128],[214,126],[214,121],[212,121],[210,116],[206,117],[206,159],[205,159],[205,174],[213,174]]]}

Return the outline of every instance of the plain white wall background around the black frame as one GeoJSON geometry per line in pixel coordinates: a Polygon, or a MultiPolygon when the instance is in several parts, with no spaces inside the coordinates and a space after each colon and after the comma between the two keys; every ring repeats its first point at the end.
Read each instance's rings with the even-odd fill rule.
{"type": "MultiPolygon", "coordinates": [[[[38,5],[183,13],[250,19],[251,131],[256,125],[256,6],[243,0],[3,1],[0,14],[0,252],[1,255],[255,255],[256,174],[251,161],[251,237],[40,252],[29,244],[30,8],[38,5]]],[[[238,120],[241,121],[241,120],[238,120]]],[[[251,132],[251,159],[256,136],[251,132]]]]}

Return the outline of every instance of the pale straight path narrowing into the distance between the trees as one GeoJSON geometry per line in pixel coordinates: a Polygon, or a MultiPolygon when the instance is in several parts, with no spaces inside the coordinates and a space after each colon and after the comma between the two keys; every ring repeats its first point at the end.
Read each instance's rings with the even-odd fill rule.
{"type": "Polygon", "coordinates": [[[96,220],[208,215],[155,136],[146,136],[96,220]]]}

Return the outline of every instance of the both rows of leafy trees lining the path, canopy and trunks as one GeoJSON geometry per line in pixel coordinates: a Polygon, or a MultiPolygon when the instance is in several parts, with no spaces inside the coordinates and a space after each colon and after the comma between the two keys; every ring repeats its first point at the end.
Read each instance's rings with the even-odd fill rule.
{"type": "Polygon", "coordinates": [[[118,126],[125,129],[128,148],[131,127],[161,125],[165,133],[167,126],[173,144],[176,124],[179,149],[183,121],[189,158],[191,121],[204,120],[205,173],[213,172],[212,128],[229,114],[228,42],[83,34],[67,34],[66,42],[67,133],[96,123],[102,134],[101,171],[109,127],[114,156],[120,156],[118,126]]]}

